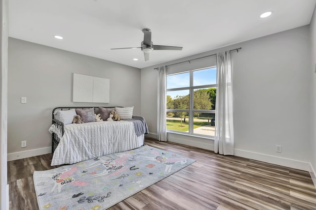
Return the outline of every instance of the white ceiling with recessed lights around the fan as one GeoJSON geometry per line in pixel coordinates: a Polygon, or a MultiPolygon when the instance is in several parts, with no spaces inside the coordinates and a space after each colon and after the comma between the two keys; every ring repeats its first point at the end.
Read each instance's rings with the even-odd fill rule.
{"type": "Polygon", "coordinates": [[[9,0],[9,36],[144,68],[308,25],[315,4],[316,0],[9,0]],[[259,17],[270,10],[270,17],[259,17]],[[140,47],[144,28],[152,30],[154,44],[183,50],[153,51],[149,61],[144,61],[141,49],[110,50],[140,47]]]}

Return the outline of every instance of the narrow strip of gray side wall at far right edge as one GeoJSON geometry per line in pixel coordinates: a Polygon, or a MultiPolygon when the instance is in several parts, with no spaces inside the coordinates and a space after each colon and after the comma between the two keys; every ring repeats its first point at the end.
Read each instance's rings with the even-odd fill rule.
{"type": "MultiPolygon", "coordinates": [[[[311,21],[311,46],[312,46],[312,68],[311,68],[311,164],[316,170],[316,9],[311,21]]],[[[316,173],[316,171],[314,171],[316,173]]]]}

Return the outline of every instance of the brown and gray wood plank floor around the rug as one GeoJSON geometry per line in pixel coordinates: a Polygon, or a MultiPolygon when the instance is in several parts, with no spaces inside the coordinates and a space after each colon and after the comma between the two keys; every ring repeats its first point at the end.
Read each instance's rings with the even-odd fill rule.
{"type": "MultiPolygon", "coordinates": [[[[146,144],[197,161],[110,210],[316,210],[316,189],[308,172],[151,138],[146,144]]],[[[39,209],[33,172],[54,168],[51,157],[8,162],[10,209],[39,209]]]]}

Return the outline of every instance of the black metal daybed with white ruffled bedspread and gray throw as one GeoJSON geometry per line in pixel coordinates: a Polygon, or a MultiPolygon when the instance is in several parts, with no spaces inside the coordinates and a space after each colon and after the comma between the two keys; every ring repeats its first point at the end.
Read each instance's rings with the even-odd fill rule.
{"type": "MultiPolygon", "coordinates": [[[[53,153],[51,166],[73,164],[106,154],[132,150],[144,145],[148,127],[145,119],[141,116],[131,116],[127,117],[127,119],[125,117],[120,121],[85,120],[85,123],[82,124],[70,122],[71,118],[73,118],[74,110],[77,113],[80,110],[83,110],[82,112],[93,111],[95,114],[100,113],[102,117],[104,112],[101,111],[104,109],[110,111],[114,109],[126,110],[127,108],[56,107],[53,109],[52,125],[49,128],[49,132],[52,135],[53,153]],[[60,118],[61,115],[58,115],[59,113],[63,113],[64,118],[60,118]],[[69,116],[65,117],[67,115],[69,116]]],[[[123,112],[120,113],[124,116],[123,112]]],[[[107,117],[103,116],[104,119],[107,117]]]]}

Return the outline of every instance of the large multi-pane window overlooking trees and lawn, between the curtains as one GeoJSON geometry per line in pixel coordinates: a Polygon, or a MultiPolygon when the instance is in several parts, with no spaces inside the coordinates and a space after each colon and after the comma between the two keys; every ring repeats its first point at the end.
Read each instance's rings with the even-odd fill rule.
{"type": "Polygon", "coordinates": [[[216,67],[167,76],[168,131],[213,137],[216,67]]]}

